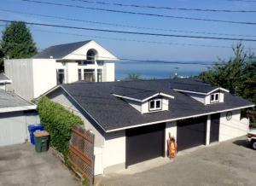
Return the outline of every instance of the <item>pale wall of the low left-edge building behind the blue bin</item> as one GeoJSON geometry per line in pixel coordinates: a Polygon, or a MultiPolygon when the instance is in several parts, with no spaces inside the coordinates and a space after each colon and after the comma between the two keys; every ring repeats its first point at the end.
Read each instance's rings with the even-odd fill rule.
{"type": "Polygon", "coordinates": [[[26,142],[29,139],[27,126],[39,123],[37,113],[0,113],[0,146],[26,142]]]}

